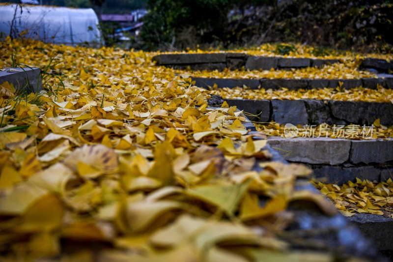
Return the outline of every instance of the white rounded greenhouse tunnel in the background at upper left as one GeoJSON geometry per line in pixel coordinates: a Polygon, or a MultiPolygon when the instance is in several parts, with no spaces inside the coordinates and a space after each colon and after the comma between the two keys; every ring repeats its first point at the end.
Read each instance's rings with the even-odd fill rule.
{"type": "Polygon", "coordinates": [[[0,5],[0,32],[47,43],[77,45],[101,41],[98,18],[91,8],[0,5]],[[12,25],[12,29],[11,29],[12,25]]]}

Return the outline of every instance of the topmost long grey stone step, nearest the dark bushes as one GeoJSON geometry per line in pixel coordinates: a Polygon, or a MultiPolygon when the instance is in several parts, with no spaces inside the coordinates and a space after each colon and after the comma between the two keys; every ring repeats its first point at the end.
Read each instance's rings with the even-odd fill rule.
{"type": "Polygon", "coordinates": [[[246,70],[289,69],[340,62],[338,59],[264,57],[243,53],[163,54],[153,57],[153,61],[157,65],[175,69],[190,67],[193,70],[241,69],[243,66],[246,70]]]}

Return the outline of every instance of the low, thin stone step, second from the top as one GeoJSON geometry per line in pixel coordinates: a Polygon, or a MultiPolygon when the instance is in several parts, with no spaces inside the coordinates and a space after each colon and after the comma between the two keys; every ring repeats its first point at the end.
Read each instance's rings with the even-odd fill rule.
{"type": "Polygon", "coordinates": [[[203,78],[193,77],[197,87],[209,88],[217,85],[217,87],[249,87],[251,89],[280,89],[281,87],[289,90],[313,89],[340,87],[350,89],[354,87],[365,87],[376,89],[377,85],[384,88],[393,88],[393,75],[380,74],[378,78],[362,78],[362,79],[240,79],[240,78],[203,78]]]}

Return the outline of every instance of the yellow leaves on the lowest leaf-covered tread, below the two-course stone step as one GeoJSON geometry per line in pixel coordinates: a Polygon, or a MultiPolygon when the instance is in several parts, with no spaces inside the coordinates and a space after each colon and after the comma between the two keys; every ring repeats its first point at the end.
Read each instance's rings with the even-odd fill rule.
{"type": "Polygon", "coordinates": [[[313,181],[313,184],[329,197],[344,216],[370,213],[393,218],[392,178],[381,183],[356,178],[356,182],[349,181],[342,186],[317,181],[313,181]]]}

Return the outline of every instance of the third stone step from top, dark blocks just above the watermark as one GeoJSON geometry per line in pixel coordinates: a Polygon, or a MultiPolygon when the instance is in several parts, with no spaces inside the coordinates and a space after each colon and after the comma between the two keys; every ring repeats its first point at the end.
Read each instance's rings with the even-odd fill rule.
{"type": "Polygon", "coordinates": [[[393,104],[336,100],[252,100],[225,99],[229,106],[237,106],[252,121],[280,124],[359,124],[371,125],[380,118],[383,125],[393,125],[393,104]]]}

